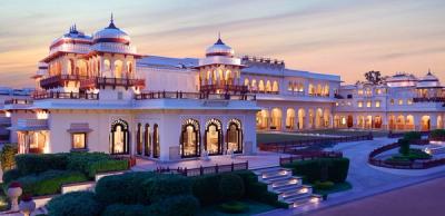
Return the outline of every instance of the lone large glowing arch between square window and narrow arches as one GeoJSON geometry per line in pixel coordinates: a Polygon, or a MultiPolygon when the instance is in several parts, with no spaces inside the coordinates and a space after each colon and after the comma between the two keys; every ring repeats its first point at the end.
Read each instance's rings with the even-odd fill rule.
{"type": "Polygon", "coordinates": [[[119,154],[129,154],[129,131],[128,131],[128,122],[118,119],[111,124],[111,132],[110,132],[110,154],[119,155],[119,154]]]}

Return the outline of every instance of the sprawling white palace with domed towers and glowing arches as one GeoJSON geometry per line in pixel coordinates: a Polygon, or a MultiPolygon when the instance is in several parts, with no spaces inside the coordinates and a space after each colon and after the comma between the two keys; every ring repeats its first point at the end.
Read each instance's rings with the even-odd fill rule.
{"type": "Polygon", "coordinates": [[[3,111],[19,151],[105,151],[180,160],[257,151],[257,130],[443,127],[437,78],[396,75],[383,85],[237,57],[221,38],[202,58],[141,55],[112,18],[88,36],[57,38],[32,77],[36,90],[3,111]]]}

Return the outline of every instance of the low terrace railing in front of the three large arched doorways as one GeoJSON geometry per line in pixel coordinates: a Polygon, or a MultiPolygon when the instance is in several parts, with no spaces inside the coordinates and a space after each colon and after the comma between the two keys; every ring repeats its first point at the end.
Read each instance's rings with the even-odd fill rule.
{"type": "Polygon", "coordinates": [[[156,168],[157,173],[176,173],[182,176],[202,176],[209,174],[220,174],[220,173],[229,173],[229,171],[237,171],[237,170],[247,170],[249,168],[249,161],[246,160],[245,163],[231,163],[228,165],[215,165],[209,167],[198,167],[198,168],[176,168],[170,169],[169,167],[158,167],[156,168]]]}

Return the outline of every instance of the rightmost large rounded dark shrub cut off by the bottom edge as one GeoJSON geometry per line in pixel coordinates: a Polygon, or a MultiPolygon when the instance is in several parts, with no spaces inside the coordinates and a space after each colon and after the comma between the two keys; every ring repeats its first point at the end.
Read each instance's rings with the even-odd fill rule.
{"type": "Polygon", "coordinates": [[[148,213],[157,216],[191,216],[195,215],[198,209],[198,199],[191,195],[179,195],[151,204],[148,213]]]}

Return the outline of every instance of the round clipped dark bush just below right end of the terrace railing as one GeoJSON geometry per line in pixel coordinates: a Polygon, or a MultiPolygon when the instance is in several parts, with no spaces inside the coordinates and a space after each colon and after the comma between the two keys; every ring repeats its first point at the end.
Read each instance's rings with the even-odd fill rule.
{"type": "Polygon", "coordinates": [[[239,199],[244,196],[243,178],[236,174],[224,174],[219,181],[219,194],[225,200],[239,199]]]}

